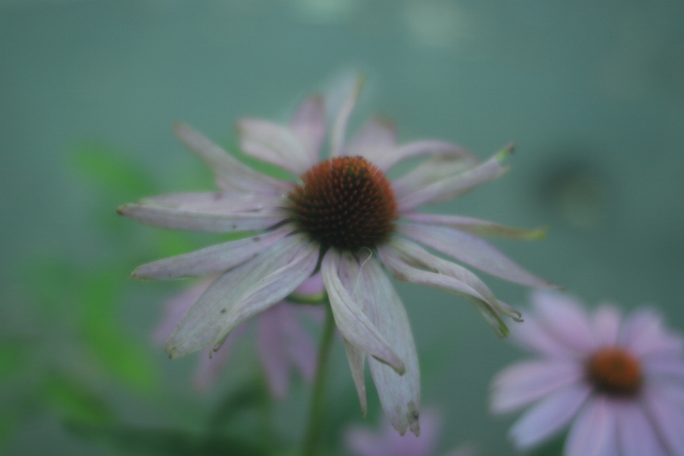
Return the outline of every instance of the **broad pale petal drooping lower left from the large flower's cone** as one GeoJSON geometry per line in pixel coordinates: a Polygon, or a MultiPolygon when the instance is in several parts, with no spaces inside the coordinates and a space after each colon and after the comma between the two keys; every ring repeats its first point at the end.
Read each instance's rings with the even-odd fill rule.
{"type": "Polygon", "coordinates": [[[298,234],[224,273],[167,341],[171,358],[215,345],[239,323],[283,299],[311,275],[317,259],[318,246],[298,234]]]}

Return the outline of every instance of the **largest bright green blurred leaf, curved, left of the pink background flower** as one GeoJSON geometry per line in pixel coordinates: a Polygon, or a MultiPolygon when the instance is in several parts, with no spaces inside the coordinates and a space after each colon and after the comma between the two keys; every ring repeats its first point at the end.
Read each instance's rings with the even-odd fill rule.
{"type": "Polygon", "coordinates": [[[83,336],[108,371],[130,385],[149,390],[157,383],[152,356],[118,319],[123,280],[115,271],[103,271],[81,285],[83,336]]]}

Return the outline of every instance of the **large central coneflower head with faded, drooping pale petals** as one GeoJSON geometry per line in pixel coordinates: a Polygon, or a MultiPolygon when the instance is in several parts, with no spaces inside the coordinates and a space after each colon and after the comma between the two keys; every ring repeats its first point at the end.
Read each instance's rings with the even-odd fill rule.
{"type": "Polygon", "coordinates": [[[329,157],[323,98],[306,100],[289,125],[244,119],[238,123],[247,155],[300,176],[267,177],[235,160],[187,125],[178,137],[216,175],[218,192],[162,195],[125,204],[120,214],[171,229],[259,234],[140,266],[133,276],[175,279],[220,274],[190,307],[166,344],[172,358],[219,346],[242,321],[269,309],[320,269],[335,323],[342,334],[361,408],[366,410],[366,355],[380,400],[401,434],[420,432],[420,373],[410,324],[382,269],[397,279],[432,286],[470,301],[500,336],[502,316],[519,314],[497,300],[462,266],[420,244],[495,276],[528,286],[549,286],[477,234],[535,237],[536,232],[468,217],[421,214],[420,204],[463,195],[504,172],[508,151],[477,164],[447,142],[397,145],[392,125],[371,120],[346,142],[346,124],[361,90],[357,83],[333,123],[329,157]],[[427,157],[389,182],[386,172],[403,160],[427,157]]]}

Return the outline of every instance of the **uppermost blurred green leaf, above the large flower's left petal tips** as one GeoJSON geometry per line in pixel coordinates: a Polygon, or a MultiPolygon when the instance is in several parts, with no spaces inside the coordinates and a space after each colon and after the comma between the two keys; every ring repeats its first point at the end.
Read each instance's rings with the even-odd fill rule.
{"type": "Polygon", "coordinates": [[[74,147],[71,164],[103,190],[138,198],[154,192],[152,179],[122,152],[89,142],[74,147]]]}

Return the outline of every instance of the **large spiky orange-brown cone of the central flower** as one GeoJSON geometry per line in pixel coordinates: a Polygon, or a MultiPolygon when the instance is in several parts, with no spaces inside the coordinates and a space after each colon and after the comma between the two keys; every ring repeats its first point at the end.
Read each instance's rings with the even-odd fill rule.
{"type": "Polygon", "coordinates": [[[373,249],[397,219],[390,182],[363,157],[318,163],[301,176],[289,199],[294,221],[325,247],[373,249]]]}

